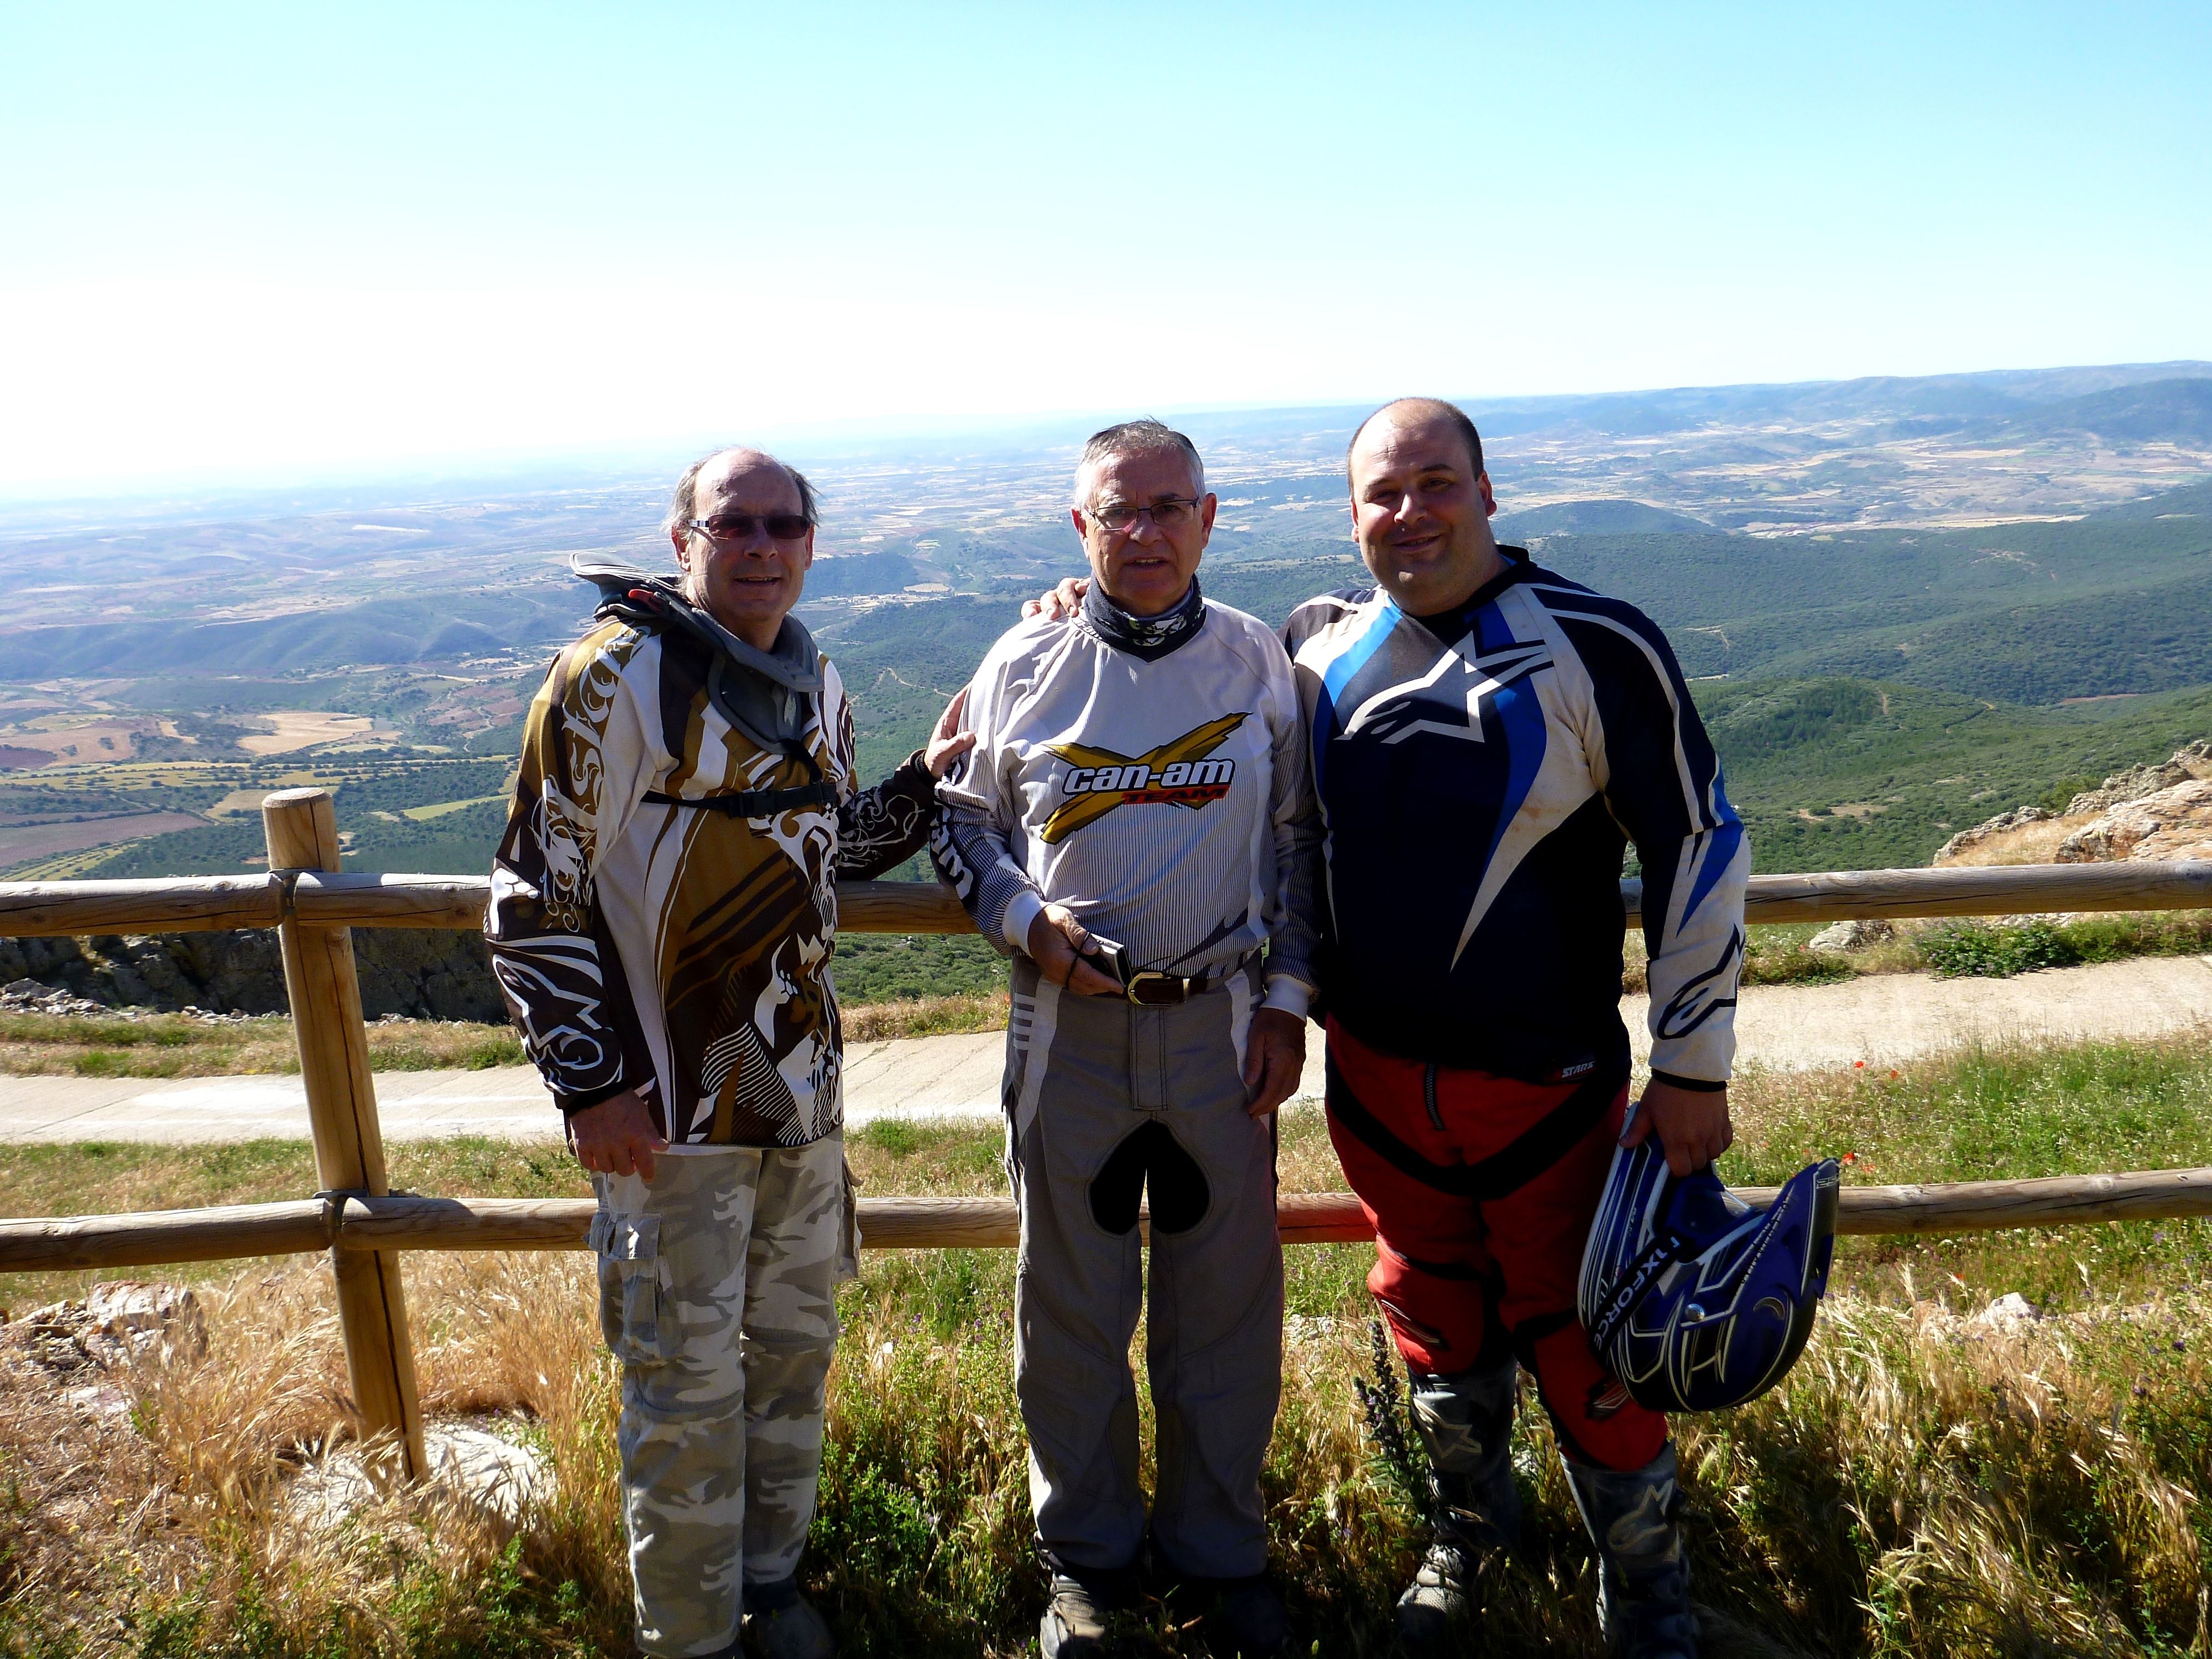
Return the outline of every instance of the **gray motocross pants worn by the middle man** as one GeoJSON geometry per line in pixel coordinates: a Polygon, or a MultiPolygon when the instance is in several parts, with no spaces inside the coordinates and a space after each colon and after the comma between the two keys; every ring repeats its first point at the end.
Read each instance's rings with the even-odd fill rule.
{"type": "Polygon", "coordinates": [[[1192,1577],[1267,1564],[1259,1478],[1283,1391],[1283,1245],[1274,1119],[1245,1113],[1256,1006],[1256,967],[1179,1006],[1139,1009],[1013,962],[1002,1088],[1022,1214],[1013,1367],[1037,1540],[1062,1566],[1121,1568],[1144,1546],[1128,1345],[1144,1307],[1146,1188],[1152,1540],[1192,1577]]]}

